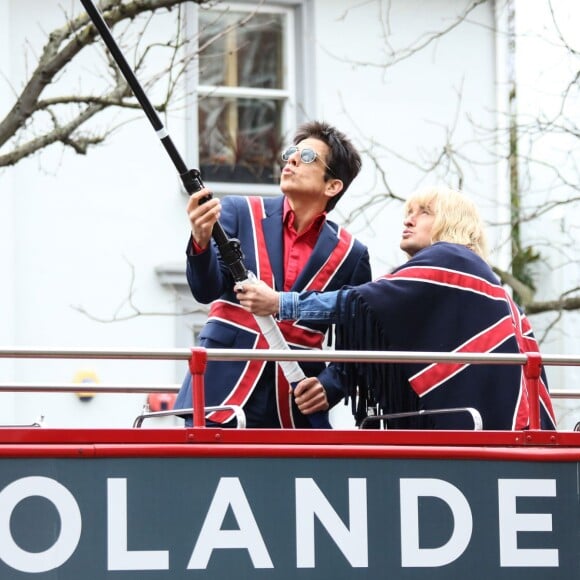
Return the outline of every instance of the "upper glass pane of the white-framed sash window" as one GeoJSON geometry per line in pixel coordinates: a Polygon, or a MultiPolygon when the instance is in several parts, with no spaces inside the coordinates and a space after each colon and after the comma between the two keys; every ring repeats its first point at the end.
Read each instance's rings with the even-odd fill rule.
{"type": "Polygon", "coordinates": [[[249,14],[200,11],[200,84],[283,88],[283,14],[249,14]]]}

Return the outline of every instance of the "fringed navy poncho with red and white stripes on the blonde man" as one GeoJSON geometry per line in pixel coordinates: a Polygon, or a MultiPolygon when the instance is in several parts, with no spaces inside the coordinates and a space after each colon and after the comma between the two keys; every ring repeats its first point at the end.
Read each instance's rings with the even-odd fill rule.
{"type": "MultiPolygon", "coordinates": [[[[465,246],[438,242],[393,273],[340,293],[337,348],[431,352],[537,351],[528,319],[499,284],[489,265],[465,246]]],[[[474,407],[484,429],[529,425],[521,365],[390,363],[343,365],[348,395],[360,422],[368,407],[380,414],[474,407]]],[[[555,429],[542,372],[543,429],[555,429]]],[[[424,415],[406,427],[471,429],[464,414],[424,415]]]]}

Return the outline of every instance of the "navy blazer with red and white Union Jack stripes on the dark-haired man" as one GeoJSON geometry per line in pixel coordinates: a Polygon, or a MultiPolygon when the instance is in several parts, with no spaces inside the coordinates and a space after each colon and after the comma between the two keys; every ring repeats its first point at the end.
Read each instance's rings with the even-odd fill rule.
{"type": "MultiPolygon", "coordinates": [[[[222,199],[220,224],[230,238],[240,241],[244,265],[274,289],[284,285],[283,196],[275,198],[228,196],[222,199]]],[[[198,302],[211,303],[208,321],[200,334],[206,348],[268,348],[251,314],[241,308],[233,291],[234,281],[214,243],[194,255],[187,249],[187,280],[198,302]]],[[[371,279],[366,246],[346,230],[326,220],[306,267],[292,290],[337,290],[371,279]]],[[[328,324],[279,322],[291,348],[321,348],[328,324]]],[[[275,363],[262,361],[208,361],[205,372],[206,405],[237,404],[253,427],[309,427],[289,395],[288,382],[275,363]],[[272,413],[272,409],[275,411],[272,413]],[[274,415],[274,416],[272,416],[274,415]]],[[[344,397],[336,365],[301,363],[307,377],[317,376],[331,406],[344,397]]],[[[187,373],[175,408],[192,406],[191,377],[187,373]]],[[[218,412],[215,423],[230,420],[218,412]]],[[[191,418],[186,419],[191,424],[191,418]]]]}

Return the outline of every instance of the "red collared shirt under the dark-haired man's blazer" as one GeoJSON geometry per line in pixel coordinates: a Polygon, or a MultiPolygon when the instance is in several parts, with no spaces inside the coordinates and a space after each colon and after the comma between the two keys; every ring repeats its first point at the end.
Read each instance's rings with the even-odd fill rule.
{"type": "Polygon", "coordinates": [[[284,292],[288,292],[306,266],[318,240],[320,228],[326,218],[326,212],[317,215],[312,223],[300,234],[294,229],[295,214],[288,198],[284,198],[284,292]]]}

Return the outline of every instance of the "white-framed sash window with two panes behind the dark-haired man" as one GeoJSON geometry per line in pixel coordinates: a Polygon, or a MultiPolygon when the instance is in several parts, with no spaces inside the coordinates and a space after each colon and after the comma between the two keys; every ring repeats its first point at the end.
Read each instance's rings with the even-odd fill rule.
{"type": "Polygon", "coordinates": [[[277,184],[280,152],[297,123],[294,37],[302,29],[296,18],[301,21],[303,2],[217,3],[195,12],[195,133],[202,179],[277,184]]]}

